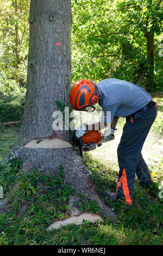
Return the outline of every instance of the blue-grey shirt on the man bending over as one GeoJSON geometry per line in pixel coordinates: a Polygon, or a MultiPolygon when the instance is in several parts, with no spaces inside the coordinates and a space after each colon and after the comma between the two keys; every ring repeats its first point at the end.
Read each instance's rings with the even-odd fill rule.
{"type": "Polygon", "coordinates": [[[114,78],[104,79],[98,84],[100,93],[99,105],[102,106],[104,115],[102,121],[106,121],[106,112],[111,112],[111,121],[114,115],[117,117],[127,117],[140,108],[147,105],[152,100],[143,88],[136,84],[118,80],[114,78]]]}

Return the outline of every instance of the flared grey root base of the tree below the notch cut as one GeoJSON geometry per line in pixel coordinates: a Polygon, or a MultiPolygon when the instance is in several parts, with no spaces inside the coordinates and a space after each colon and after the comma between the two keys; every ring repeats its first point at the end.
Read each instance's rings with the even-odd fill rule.
{"type": "Polygon", "coordinates": [[[73,147],[64,149],[21,147],[16,151],[16,157],[23,158],[21,167],[23,172],[28,172],[28,169],[40,170],[58,176],[59,171],[64,170],[64,182],[76,190],[76,194],[69,201],[70,215],[82,213],[76,205],[80,202],[79,194],[87,194],[90,201],[96,200],[101,208],[101,215],[111,218],[111,221],[116,220],[117,215],[98,197],[94,184],[89,181],[91,172],[86,169],[83,159],[73,147]]]}

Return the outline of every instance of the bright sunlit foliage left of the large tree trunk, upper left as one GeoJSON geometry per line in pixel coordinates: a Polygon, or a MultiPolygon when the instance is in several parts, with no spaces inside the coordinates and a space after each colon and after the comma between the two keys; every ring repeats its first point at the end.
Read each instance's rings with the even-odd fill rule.
{"type": "Polygon", "coordinates": [[[2,0],[0,7],[0,69],[22,86],[27,80],[29,0],[2,0]]]}

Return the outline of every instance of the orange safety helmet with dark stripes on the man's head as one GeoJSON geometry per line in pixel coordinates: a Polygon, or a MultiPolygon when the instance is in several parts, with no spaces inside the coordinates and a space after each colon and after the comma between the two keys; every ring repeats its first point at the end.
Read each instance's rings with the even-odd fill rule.
{"type": "Polygon", "coordinates": [[[81,111],[94,111],[99,100],[98,86],[96,83],[82,79],[77,81],[70,92],[70,103],[73,109],[81,111]]]}

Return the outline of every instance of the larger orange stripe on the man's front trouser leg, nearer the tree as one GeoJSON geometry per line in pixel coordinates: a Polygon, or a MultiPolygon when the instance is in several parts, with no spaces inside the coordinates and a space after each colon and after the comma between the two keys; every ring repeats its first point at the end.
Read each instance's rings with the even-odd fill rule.
{"type": "Polygon", "coordinates": [[[122,190],[123,190],[123,194],[124,194],[127,204],[132,204],[130,194],[129,194],[128,185],[127,185],[127,176],[126,176],[125,169],[123,169],[122,176],[117,183],[116,191],[118,190],[118,187],[121,186],[121,184],[122,184],[122,190]]]}

